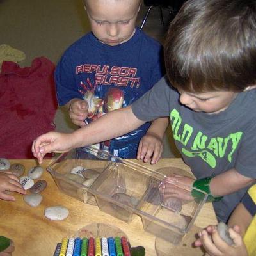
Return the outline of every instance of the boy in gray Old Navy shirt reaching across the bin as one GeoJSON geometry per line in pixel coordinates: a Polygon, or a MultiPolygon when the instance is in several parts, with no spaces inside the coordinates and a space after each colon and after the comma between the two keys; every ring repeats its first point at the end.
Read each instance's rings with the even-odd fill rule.
{"type": "Polygon", "coordinates": [[[256,178],[255,52],[256,1],[187,1],[164,45],[167,77],[132,106],[72,134],[38,137],[33,154],[42,163],[48,152],[109,140],[170,116],[177,148],[196,180],[167,178],[164,192],[186,200],[198,196],[193,189],[180,195],[168,179],[203,189],[218,220],[226,222],[256,178]]]}

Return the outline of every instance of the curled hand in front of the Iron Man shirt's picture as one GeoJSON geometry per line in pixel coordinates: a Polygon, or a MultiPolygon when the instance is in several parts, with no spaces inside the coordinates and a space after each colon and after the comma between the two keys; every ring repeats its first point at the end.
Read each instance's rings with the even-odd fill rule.
{"type": "Polygon", "coordinates": [[[85,118],[88,116],[88,103],[85,100],[76,100],[70,104],[68,114],[73,124],[84,127],[85,118]]]}

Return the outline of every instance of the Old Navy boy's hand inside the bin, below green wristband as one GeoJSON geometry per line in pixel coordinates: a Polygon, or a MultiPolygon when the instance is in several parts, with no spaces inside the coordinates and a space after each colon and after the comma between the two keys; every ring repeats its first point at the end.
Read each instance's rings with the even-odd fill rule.
{"type": "Polygon", "coordinates": [[[195,180],[190,177],[174,175],[164,179],[163,185],[159,189],[163,191],[164,198],[175,197],[182,200],[193,200],[191,187],[194,182],[195,180]],[[177,182],[180,182],[179,186],[176,185],[177,182]],[[182,187],[182,184],[185,186],[182,187]]]}

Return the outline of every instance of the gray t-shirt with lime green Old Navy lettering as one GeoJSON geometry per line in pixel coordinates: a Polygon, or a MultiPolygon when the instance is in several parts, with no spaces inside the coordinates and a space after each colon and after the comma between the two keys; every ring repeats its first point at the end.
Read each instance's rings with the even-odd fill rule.
{"type": "MultiPolygon", "coordinates": [[[[209,114],[180,104],[179,93],[163,77],[132,104],[132,112],[145,121],[170,116],[175,144],[196,179],[231,168],[256,179],[256,90],[239,93],[227,109],[209,114]]],[[[219,220],[227,221],[245,191],[214,202],[219,220]]]]}

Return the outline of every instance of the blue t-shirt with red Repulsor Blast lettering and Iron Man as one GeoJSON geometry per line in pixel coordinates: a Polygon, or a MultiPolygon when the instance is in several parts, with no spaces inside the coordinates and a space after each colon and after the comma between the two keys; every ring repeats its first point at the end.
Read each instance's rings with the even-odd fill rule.
{"type": "MultiPolygon", "coordinates": [[[[130,105],[163,76],[163,52],[156,40],[136,28],[130,40],[116,46],[100,42],[92,32],[65,51],[54,74],[60,106],[74,98],[88,102],[92,122],[108,111],[130,105]]],[[[122,122],[122,120],[120,120],[122,122]]],[[[135,158],[150,122],[102,143],[111,154],[135,158]]]]}

